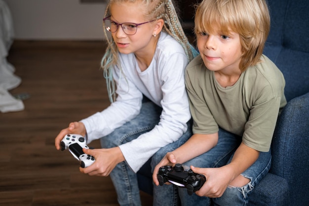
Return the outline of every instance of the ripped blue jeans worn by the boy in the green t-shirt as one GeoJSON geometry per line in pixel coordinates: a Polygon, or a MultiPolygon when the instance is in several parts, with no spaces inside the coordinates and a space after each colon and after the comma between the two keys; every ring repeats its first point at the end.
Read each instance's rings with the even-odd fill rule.
{"type": "MultiPolygon", "coordinates": [[[[240,143],[241,137],[223,129],[219,129],[218,144],[208,152],[184,163],[183,166],[185,170],[188,170],[190,165],[196,167],[220,167],[226,165],[231,162],[233,153],[240,143]]],[[[165,148],[161,148],[154,155],[152,164],[157,164],[159,162],[159,157],[164,157],[164,153],[166,154],[165,148]],[[162,152],[162,154],[159,152],[162,152]]],[[[187,193],[187,189],[177,188],[174,185],[154,187],[156,199],[164,200],[154,204],[154,206],[177,206],[177,195],[180,197],[182,206],[246,206],[248,204],[250,192],[268,173],[270,169],[270,159],[270,151],[267,153],[261,152],[258,160],[242,173],[244,177],[249,178],[251,181],[243,187],[228,187],[220,198],[210,199],[207,197],[199,197],[195,194],[190,196],[187,193]]]]}

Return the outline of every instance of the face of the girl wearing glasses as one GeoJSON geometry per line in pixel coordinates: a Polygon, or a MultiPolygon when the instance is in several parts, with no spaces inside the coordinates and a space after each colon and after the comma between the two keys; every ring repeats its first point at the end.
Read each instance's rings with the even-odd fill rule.
{"type": "MultiPolygon", "coordinates": [[[[141,3],[113,3],[111,4],[111,21],[118,24],[122,23],[135,23],[140,24],[150,21],[145,19],[143,11],[145,5],[141,3]]],[[[151,19],[152,20],[152,19],[151,19]]],[[[116,42],[120,53],[129,54],[136,52],[143,52],[152,48],[153,34],[154,34],[154,21],[137,26],[137,31],[134,35],[127,35],[123,32],[121,26],[118,26],[116,32],[112,33],[112,37],[116,42]]]]}

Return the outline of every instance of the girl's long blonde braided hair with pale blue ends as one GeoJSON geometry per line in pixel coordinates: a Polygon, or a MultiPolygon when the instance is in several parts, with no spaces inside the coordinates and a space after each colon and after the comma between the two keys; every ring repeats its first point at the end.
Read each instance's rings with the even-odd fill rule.
{"type": "MultiPolygon", "coordinates": [[[[178,19],[177,12],[173,5],[172,0],[110,0],[104,17],[109,15],[110,5],[112,3],[123,3],[123,2],[139,2],[141,4],[145,4],[146,11],[141,11],[145,14],[146,19],[149,21],[153,19],[163,19],[164,25],[162,31],[165,31],[170,36],[172,36],[175,40],[177,40],[185,50],[188,61],[191,61],[194,56],[196,56],[195,49],[189,43],[180,21],[178,19]]],[[[110,101],[113,102],[115,100],[116,94],[116,86],[113,80],[113,68],[117,66],[121,70],[121,65],[118,62],[118,49],[115,44],[113,38],[109,38],[104,26],[104,34],[108,41],[108,46],[105,52],[105,55],[101,61],[101,67],[104,71],[104,77],[107,80],[108,93],[110,97],[110,101]]]]}

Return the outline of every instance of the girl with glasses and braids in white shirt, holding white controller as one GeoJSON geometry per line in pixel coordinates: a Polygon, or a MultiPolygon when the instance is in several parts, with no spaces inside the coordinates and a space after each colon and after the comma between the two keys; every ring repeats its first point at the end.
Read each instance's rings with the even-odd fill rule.
{"type": "Polygon", "coordinates": [[[101,138],[104,149],[84,151],[96,162],[80,171],[110,174],[118,203],[140,206],[136,172],[161,147],[191,136],[184,70],[194,50],[171,0],[111,0],[104,26],[109,45],[102,67],[112,104],[69,124],[55,145],[60,149],[67,133],[84,135],[87,143],[101,138]]]}

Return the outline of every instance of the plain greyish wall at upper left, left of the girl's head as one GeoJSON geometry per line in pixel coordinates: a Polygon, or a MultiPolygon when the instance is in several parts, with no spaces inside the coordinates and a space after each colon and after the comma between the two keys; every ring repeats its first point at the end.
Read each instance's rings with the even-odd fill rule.
{"type": "Polygon", "coordinates": [[[103,40],[106,3],[80,0],[4,0],[17,40],[103,40]]]}

